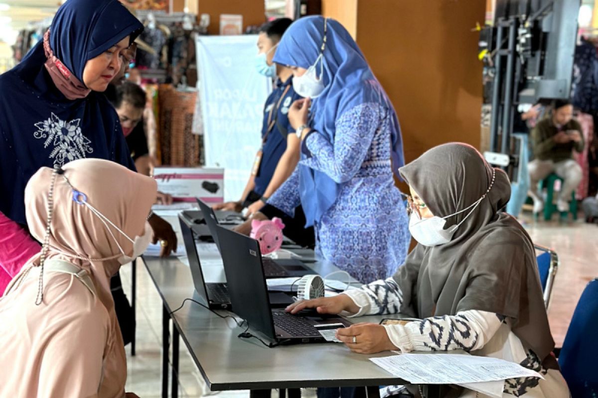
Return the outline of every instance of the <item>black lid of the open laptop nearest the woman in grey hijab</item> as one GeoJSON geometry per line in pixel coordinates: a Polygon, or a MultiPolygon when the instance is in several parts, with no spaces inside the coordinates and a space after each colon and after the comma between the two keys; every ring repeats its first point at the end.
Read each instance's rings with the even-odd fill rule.
{"type": "Polygon", "coordinates": [[[247,320],[251,328],[275,340],[259,243],[222,226],[216,230],[234,313],[247,320]]]}

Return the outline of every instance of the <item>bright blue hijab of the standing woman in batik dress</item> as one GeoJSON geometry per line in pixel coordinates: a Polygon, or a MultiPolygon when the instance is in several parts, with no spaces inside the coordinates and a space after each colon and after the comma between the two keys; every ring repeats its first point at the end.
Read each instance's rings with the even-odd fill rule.
{"type": "MultiPolygon", "coordinates": [[[[274,62],[308,69],[323,54],[322,79],[325,89],[313,99],[312,127],[330,143],[334,143],[336,122],[344,113],[361,104],[380,104],[386,109],[386,118],[390,118],[393,170],[398,169],[404,165],[404,157],[401,129],[392,103],[349,32],[331,18],[327,18],[326,30],[322,53],[324,17],[304,17],[295,21],[280,39],[274,62]]],[[[319,63],[316,69],[319,74],[319,63]]],[[[299,168],[301,205],[307,226],[311,226],[334,204],[342,184],[335,183],[324,172],[304,165],[299,168]]]]}

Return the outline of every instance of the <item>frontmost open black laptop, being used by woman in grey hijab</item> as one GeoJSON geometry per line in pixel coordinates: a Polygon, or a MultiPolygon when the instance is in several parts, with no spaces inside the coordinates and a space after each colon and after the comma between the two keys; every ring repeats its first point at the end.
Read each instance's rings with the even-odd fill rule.
{"type": "Polygon", "coordinates": [[[251,237],[223,227],[216,227],[222,247],[222,261],[227,277],[233,311],[247,320],[249,327],[280,344],[320,343],[326,341],[319,330],[350,326],[338,315],[316,311],[289,314],[272,309],[262,267],[260,244],[251,237]]]}

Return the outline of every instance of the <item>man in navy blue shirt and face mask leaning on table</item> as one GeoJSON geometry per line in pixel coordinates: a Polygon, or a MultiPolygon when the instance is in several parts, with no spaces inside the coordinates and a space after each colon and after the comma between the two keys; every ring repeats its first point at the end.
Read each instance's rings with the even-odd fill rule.
{"type": "MultiPolygon", "coordinates": [[[[278,42],[291,23],[289,18],[279,18],[264,24],[260,29],[255,68],[261,75],[276,78],[274,90],[264,106],[261,148],[255,156],[254,166],[241,199],[215,205],[217,210],[240,212],[243,208],[248,208],[247,215],[251,216],[266,205],[268,198],[297,167],[301,141],[289,124],[288,112],[291,105],[301,96],[293,90],[291,69],[272,61],[278,42]]],[[[306,221],[301,207],[295,210],[293,218],[282,212],[276,212],[271,216],[274,215],[283,219],[286,236],[300,245],[313,246],[313,228],[304,228],[306,221]]]]}

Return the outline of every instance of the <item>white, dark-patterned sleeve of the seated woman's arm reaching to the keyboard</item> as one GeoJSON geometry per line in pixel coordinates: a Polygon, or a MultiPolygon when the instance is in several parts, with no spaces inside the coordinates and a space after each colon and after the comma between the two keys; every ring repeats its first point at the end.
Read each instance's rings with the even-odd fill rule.
{"type": "Polygon", "coordinates": [[[359,307],[358,313],[352,316],[396,314],[403,300],[401,288],[392,277],[376,280],[361,289],[351,289],[343,294],[359,307]]]}

